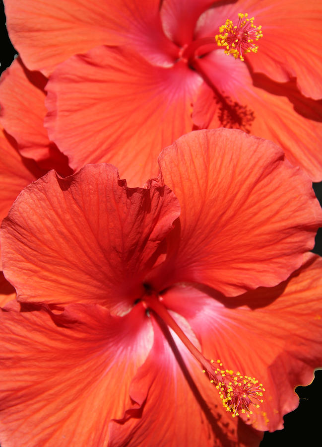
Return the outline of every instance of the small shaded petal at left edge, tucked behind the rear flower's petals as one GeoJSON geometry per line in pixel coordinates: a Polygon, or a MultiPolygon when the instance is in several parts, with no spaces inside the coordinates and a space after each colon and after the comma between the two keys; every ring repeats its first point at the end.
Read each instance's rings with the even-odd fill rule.
{"type": "Polygon", "coordinates": [[[21,155],[33,158],[42,169],[56,169],[70,175],[67,157],[48,139],[44,128],[47,79],[39,72],[29,72],[20,58],[5,70],[0,82],[0,123],[17,142],[21,155]]]}

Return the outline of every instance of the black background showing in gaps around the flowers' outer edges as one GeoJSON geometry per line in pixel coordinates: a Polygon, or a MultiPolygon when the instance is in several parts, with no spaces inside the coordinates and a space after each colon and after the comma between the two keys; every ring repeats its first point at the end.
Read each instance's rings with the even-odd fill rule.
{"type": "MultiPolygon", "coordinates": [[[[0,1],[0,43],[0,73],[2,73],[11,64],[16,54],[6,32],[2,1],[0,1]]],[[[314,189],[321,203],[322,182],[315,183],[314,189]]],[[[322,229],[318,232],[314,251],[322,256],[322,229]]],[[[298,386],[296,392],[300,397],[299,407],[284,416],[283,430],[274,433],[265,432],[260,447],[322,445],[322,371],[315,372],[315,379],[311,385],[298,386]]]]}

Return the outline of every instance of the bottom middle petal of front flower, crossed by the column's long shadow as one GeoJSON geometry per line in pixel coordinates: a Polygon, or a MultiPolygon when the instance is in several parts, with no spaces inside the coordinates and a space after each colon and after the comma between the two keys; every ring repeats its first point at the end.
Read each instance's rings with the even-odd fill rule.
{"type": "MultiPolygon", "coordinates": [[[[187,321],[173,316],[199,346],[187,321]]],[[[153,347],[130,387],[142,413],[131,417],[129,409],[123,419],[111,422],[109,447],[257,447],[262,434],[226,412],[178,337],[167,329],[162,332],[154,318],[152,323],[153,347]]]]}

